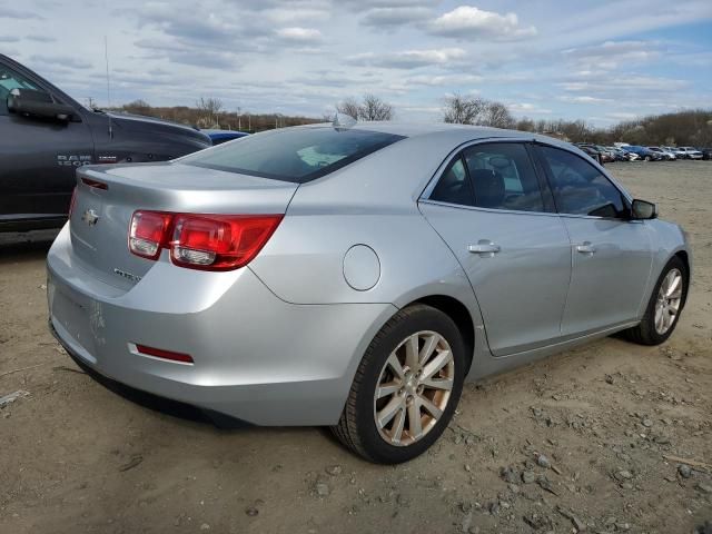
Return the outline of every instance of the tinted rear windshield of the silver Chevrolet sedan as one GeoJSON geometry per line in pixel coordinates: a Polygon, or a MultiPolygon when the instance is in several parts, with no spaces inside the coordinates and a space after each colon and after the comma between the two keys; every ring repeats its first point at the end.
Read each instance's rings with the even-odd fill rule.
{"type": "Polygon", "coordinates": [[[400,139],[380,131],[287,128],[196,152],[180,162],[304,184],[400,139]]]}

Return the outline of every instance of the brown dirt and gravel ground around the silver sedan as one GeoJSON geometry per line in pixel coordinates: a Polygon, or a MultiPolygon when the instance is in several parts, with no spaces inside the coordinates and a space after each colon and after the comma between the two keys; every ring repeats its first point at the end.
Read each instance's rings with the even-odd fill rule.
{"type": "Polygon", "coordinates": [[[395,467],[324,429],[224,431],[105,388],[48,333],[51,233],[0,236],[0,397],[28,392],[0,409],[0,532],[692,533],[712,518],[712,162],[610,169],[690,233],[672,338],[467,385],[438,444],[395,467]]]}

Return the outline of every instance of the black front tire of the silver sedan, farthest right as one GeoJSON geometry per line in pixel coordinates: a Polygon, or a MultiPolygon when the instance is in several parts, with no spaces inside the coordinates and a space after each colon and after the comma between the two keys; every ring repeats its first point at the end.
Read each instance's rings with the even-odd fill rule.
{"type": "Polygon", "coordinates": [[[643,319],[637,326],[623,332],[625,338],[639,345],[660,345],[666,342],[675,329],[678,320],[680,320],[680,314],[688,297],[688,269],[678,256],[668,261],[653,288],[643,319]],[[666,284],[668,280],[672,281],[674,279],[675,273],[680,274],[679,296],[674,288],[672,291],[666,291],[665,287],[663,287],[663,284],[666,284]],[[665,296],[665,293],[670,293],[670,295],[665,296]],[[671,300],[671,297],[673,297],[672,300],[678,301],[675,314],[671,319],[668,319],[668,317],[670,317],[673,307],[670,305],[661,307],[663,297],[666,300],[671,300]],[[664,322],[670,320],[670,323],[661,323],[661,317],[663,317],[664,322]]]}

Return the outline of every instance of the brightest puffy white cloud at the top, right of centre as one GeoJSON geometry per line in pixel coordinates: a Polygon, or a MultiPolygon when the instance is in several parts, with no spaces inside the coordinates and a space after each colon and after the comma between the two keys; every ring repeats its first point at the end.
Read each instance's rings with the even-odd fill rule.
{"type": "Polygon", "coordinates": [[[473,6],[459,6],[435,19],[429,31],[436,36],[465,40],[511,41],[536,36],[533,26],[521,27],[516,13],[500,14],[473,6]]]}

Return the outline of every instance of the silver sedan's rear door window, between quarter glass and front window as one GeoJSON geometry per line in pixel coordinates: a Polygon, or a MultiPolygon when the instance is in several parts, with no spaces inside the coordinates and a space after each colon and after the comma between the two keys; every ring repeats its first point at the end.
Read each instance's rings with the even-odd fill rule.
{"type": "Polygon", "coordinates": [[[524,145],[493,142],[465,149],[475,206],[544,211],[542,190],[524,145]]]}

